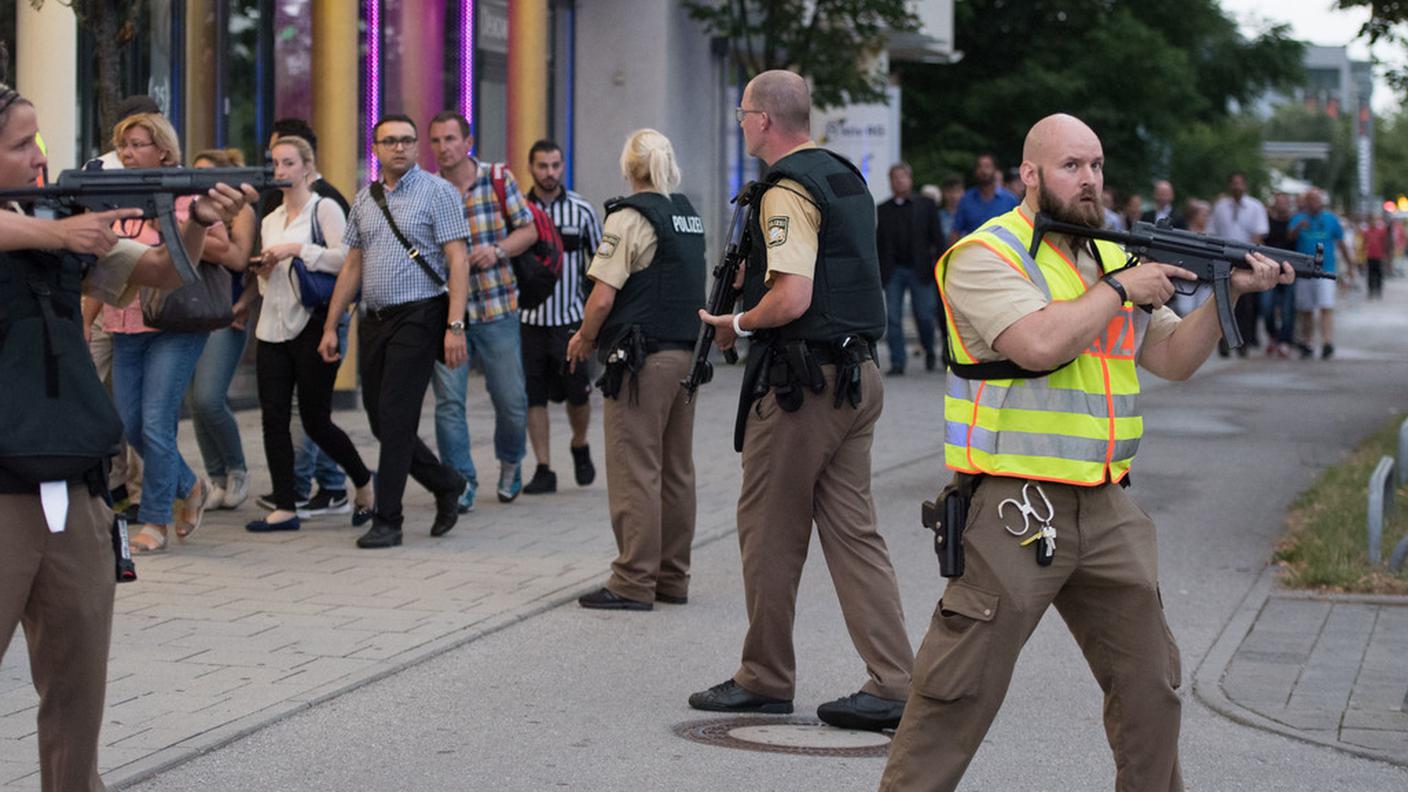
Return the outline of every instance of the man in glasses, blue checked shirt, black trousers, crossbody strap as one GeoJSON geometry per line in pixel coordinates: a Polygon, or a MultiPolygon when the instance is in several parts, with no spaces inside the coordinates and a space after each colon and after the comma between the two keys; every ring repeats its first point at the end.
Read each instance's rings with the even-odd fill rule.
{"type": "Polygon", "coordinates": [[[435,495],[434,537],[455,527],[465,490],[463,476],[442,465],[415,430],[436,355],[452,368],[465,364],[469,225],[455,187],[415,165],[415,121],[384,116],[373,134],[382,178],[352,202],[348,255],[318,344],[322,359],[342,357],[338,317],[362,289],[362,403],[382,454],[376,516],[356,540],[360,548],[401,544],[407,476],[435,495]]]}

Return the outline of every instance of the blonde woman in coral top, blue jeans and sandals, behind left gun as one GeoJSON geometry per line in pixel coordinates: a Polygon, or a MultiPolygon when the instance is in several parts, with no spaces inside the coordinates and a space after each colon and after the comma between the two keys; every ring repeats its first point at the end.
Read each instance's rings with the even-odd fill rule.
{"type": "MultiPolygon", "coordinates": [[[[139,113],[118,121],[113,145],[122,168],[176,168],[182,163],[180,141],[170,121],[155,113],[139,113]]],[[[190,202],[176,204],[176,218],[186,220],[190,202]]],[[[120,221],[120,235],[146,245],[159,245],[161,234],[149,220],[120,221]]],[[[244,269],[239,248],[230,241],[224,224],[210,227],[203,261],[244,269]]],[[[211,485],[197,478],[176,447],[182,396],[206,348],[208,333],[153,330],[142,321],[139,300],[125,309],[103,307],[103,327],[113,337],[113,400],[122,417],[127,441],[142,457],[141,528],[131,537],[134,552],[166,550],[170,528],[186,537],[200,527],[210,502],[211,485]]]]}

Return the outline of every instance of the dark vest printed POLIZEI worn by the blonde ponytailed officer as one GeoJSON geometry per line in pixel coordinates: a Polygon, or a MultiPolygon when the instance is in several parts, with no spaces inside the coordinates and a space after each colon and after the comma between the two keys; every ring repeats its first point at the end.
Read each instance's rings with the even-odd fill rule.
{"type": "Polygon", "coordinates": [[[617,295],[598,338],[603,362],[639,326],[646,341],[693,344],[704,304],[704,221],[689,199],[674,193],[635,193],[607,203],[607,216],[624,207],[639,211],[655,230],[655,258],[631,275],[617,295]]]}

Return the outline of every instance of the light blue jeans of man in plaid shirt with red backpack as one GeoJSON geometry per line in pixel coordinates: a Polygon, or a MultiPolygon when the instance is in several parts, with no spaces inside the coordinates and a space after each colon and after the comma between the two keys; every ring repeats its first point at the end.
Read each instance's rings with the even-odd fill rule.
{"type": "Polygon", "coordinates": [[[465,399],[469,395],[469,366],[484,372],[484,388],[494,403],[494,457],[517,465],[524,458],[528,433],[528,392],[524,389],[522,342],[518,316],[470,324],[465,328],[469,365],[448,368],[435,364],[435,447],[441,461],[479,489],[474,459],[469,455],[469,423],[465,399]]]}

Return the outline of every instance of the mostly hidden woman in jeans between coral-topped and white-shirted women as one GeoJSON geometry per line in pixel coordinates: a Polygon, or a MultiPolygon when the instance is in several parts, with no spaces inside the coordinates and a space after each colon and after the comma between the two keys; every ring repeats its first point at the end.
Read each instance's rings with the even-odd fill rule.
{"type": "MultiPolygon", "coordinates": [[[[244,168],[245,155],[238,148],[214,148],[201,151],[191,159],[194,168],[244,168]]],[[[245,354],[249,331],[245,318],[258,293],[246,287],[246,275],[241,272],[244,262],[255,245],[255,207],[239,210],[230,227],[234,249],[231,259],[241,266],[231,268],[234,279],[234,321],[210,334],[206,351],[196,362],[196,375],[190,380],[190,417],[196,427],[196,443],[206,462],[206,476],[211,482],[210,507],[234,509],[249,497],[249,474],[245,466],[245,447],[239,440],[239,424],[230,409],[230,383],[245,354]]]]}

